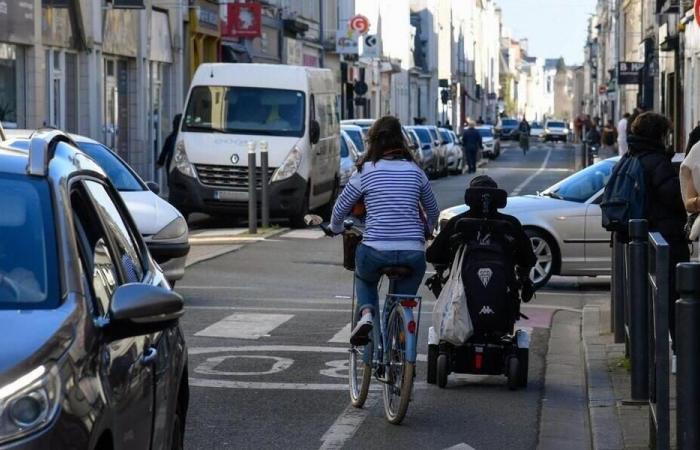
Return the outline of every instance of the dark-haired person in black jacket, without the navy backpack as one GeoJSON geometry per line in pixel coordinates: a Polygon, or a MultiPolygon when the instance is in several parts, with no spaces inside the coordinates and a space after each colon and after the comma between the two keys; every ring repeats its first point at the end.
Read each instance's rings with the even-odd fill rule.
{"type": "MultiPolygon", "coordinates": [[[[670,246],[669,329],[675,345],[676,264],[690,259],[684,227],[686,211],[678,174],[671,165],[673,152],[666,149],[671,122],[663,115],[643,112],[634,119],[628,136],[629,154],[644,167],[646,210],[650,231],[660,232],[670,246]]],[[[674,347],[675,348],[675,347],[674,347]]]]}

